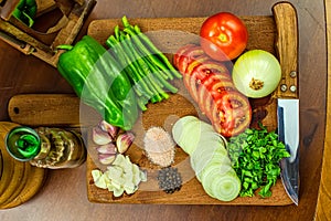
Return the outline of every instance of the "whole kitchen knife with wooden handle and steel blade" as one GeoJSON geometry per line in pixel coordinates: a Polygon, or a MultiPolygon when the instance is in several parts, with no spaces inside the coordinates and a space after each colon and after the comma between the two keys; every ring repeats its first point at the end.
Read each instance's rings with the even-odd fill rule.
{"type": "Polygon", "coordinates": [[[281,65],[281,81],[277,97],[278,136],[289,158],[280,161],[280,177],[286,192],[299,203],[299,93],[298,93],[298,22],[290,3],[273,7],[277,27],[276,52],[281,65]]]}

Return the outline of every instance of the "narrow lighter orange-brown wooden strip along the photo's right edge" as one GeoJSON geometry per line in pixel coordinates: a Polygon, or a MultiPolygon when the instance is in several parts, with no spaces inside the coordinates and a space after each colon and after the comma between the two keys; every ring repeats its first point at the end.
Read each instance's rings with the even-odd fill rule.
{"type": "Polygon", "coordinates": [[[323,166],[316,209],[316,221],[331,220],[331,0],[325,0],[327,42],[328,42],[328,91],[327,127],[323,151],[323,166]]]}

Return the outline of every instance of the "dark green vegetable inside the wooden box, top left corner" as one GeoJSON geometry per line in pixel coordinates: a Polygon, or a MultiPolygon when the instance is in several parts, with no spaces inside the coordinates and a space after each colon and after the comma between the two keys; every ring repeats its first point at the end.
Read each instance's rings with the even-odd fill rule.
{"type": "Polygon", "coordinates": [[[26,24],[32,27],[34,17],[36,14],[38,6],[35,0],[20,0],[17,8],[13,10],[12,15],[26,24]]]}

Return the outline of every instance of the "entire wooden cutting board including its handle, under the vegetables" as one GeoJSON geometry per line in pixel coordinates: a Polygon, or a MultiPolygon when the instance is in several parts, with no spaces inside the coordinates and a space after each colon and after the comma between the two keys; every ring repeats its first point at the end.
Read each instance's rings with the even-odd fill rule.
{"type": "MultiPolygon", "coordinates": [[[[273,17],[242,17],[247,25],[249,42],[247,50],[263,49],[275,54],[276,24],[273,17]]],[[[196,43],[196,34],[205,18],[159,18],[159,19],[129,19],[132,24],[138,24],[143,32],[151,33],[150,38],[157,46],[168,52],[171,60],[171,53],[174,53],[181,45],[196,43]],[[173,32],[173,30],[175,30],[173,32]],[[185,38],[181,38],[182,34],[185,38]]],[[[113,34],[114,27],[120,24],[120,20],[96,20],[88,27],[88,34],[100,43],[113,34]]],[[[95,164],[95,147],[90,143],[90,133],[87,137],[87,147],[89,157],[87,158],[87,194],[92,202],[104,203],[162,203],[162,204],[258,204],[258,206],[286,206],[292,201],[284,190],[281,181],[278,180],[273,187],[273,197],[261,199],[237,198],[231,202],[222,202],[209,197],[202,189],[201,183],[195,179],[190,167],[189,157],[180,148],[177,148],[173,166],[180,168],[184,185],[182,189],[173,194],[167,194],[158,190],[156,180],[157,168],[150,165],[141,151],[142,137],[150,126],[161,126],[171,130],[173,122],[185,115],[195,115],[203,119],[205,117],[200,113],[196,104],[191,99],[181,80],[174,82],[179,87],[179,93],[159,104],[148,105],[148,110],[141,114],[132,131],[136,134],[134,145],[127,155],[130,159],[145,168],[149,172],[149,181],[141,183],[139,190],[132,196],[124,196],[115,199],[111,192],[95,187],[90,171],[98,168],[95,164]]],[[[276,101],[273,97],[250,101],[253,107],[253,123],[256,125],[261,120],[270,130],[276,129],[276,101]]],[[[9,103],[9,115],[11,120],[30,126],[84,126],[90,131],[99,118],[99,115],[90,107],[82,106],[75,95],[57,94],[28,94],[18,95],[11,98],[9,103]],[[82,108],[84,107],[84,108],[82,108]]]]}

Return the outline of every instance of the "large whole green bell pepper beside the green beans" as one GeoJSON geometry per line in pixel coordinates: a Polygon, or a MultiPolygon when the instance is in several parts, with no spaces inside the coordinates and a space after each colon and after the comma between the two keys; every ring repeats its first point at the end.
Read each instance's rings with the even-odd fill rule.
{"type": "Polygon", "coordinates": [[[57,70],[81,99],[94,107],[104,119],[124,130],[138,118],[136,94],[115,57],[95,39],[83,36],[58,57],[57,70]]]}

